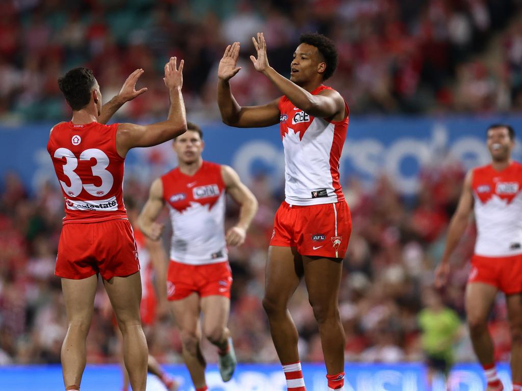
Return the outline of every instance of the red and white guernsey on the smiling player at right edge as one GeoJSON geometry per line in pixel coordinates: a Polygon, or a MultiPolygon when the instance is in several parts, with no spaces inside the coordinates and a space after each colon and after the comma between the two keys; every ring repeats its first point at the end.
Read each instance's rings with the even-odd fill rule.
{"type": "Polygon", "coordinates": [[[522,254],[522,165],[496,171],[491,164],[473,169],[475,253],[482,256],[522,254]]]}

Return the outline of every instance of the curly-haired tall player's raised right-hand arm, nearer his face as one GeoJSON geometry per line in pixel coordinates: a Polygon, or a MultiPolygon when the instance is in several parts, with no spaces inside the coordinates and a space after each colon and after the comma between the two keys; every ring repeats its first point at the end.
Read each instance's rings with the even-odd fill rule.
{"type": "Polygon", "coordinates": [[[252,37],[252,42],[257,51],[257,58],[250,56],[254,68],[270,79],[295,107],[299,107],[306,114],[314,117],[344,118],[347,115],[345,100],[342,99],[341,94],[337,91],[324,90],[317,95],[312,95],[270,67],[263,33],[257,33],[257,39],[252,37]]]}

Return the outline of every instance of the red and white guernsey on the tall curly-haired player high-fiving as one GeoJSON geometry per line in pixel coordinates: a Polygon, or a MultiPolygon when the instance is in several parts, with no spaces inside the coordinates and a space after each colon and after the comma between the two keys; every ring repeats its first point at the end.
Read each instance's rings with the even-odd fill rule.
{"type": "MultiPolygon", "coordinates": [[[[316,95],[325,85],[312,91],[316,95]]],[[[346,117],[338,122],[313,117],[286,97],[279,101],[284,147],[284,194],[291,205],[317,205],[344,201],[339,183],[339,160],[348,130],[346,117]]]]}

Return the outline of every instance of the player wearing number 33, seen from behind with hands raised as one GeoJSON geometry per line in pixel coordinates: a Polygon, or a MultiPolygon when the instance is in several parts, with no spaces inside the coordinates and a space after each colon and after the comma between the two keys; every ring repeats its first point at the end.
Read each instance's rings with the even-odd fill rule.
{"type": "Polygon", "coordinates": [[[80,388],[98,274],[123,334],[124,361],[132,388],[145,390],[147,343],[139,315],[140,266],[122,199],[123,164],[131,148],[156,145],[186,131],[182,70],[183,60],[177,69],[175,57],[165,64],[169,116],[144,126],[104,125],[123,103],[147,90],[134,88],[143,69],[135,70],[120,93],[103,107],[91,70],[75,68],[58,80],[73,109],[71,121],[51,129],[47,147],[65,198],[55,274],[62,277],[67,313],[61,353],[66,390],[80,388]]]}

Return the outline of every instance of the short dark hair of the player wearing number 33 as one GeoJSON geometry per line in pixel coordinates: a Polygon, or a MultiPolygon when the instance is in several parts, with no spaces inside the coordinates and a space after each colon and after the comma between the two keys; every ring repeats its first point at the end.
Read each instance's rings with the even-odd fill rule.
{"type": "Polygon", "coordinates": [[[87,106],[91,100],[92,87],[96,79],[88,68],[74,68],[58,79],[58,87],[65,95],[69,106],[78,111],[87,106]]]}

